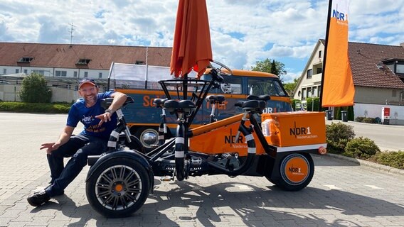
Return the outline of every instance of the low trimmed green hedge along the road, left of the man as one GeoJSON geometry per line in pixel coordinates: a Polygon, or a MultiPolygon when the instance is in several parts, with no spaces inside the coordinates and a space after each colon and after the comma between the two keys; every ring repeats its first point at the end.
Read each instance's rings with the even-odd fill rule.
{"type": "Polygon", "coordinates": [[[70,104],[33,104],[26,102],[0,102],[0,111],[18,113],[68,114],[70,104]]]}

